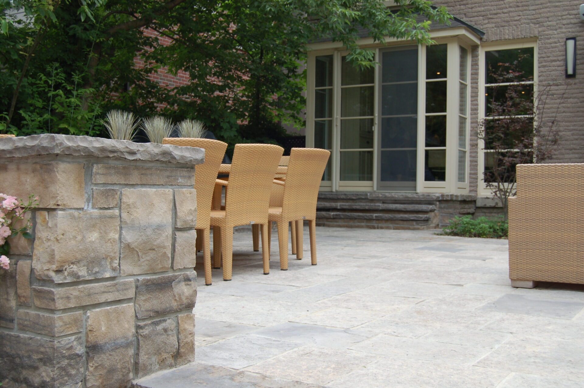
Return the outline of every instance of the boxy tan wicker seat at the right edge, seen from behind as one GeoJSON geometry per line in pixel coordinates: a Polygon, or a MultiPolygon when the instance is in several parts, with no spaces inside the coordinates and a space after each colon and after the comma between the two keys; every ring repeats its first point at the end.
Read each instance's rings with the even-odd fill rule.
{"type": "Polygon", "coordinates": [[[584,164],[517,166],[509,198],[509,278],[584,284],[584,164]]]}

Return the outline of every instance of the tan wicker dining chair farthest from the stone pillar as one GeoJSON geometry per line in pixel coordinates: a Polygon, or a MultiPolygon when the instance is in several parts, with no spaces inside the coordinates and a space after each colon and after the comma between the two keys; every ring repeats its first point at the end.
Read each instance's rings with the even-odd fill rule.
{"type": "MultiPolygon", "coordinates": [[[[283,187],[281,197],[272,195],[274,202],[281,202],[280,206],[270,204],[269,220],[278,226],[278,242],[280,247],[280,269],[288,269],[288,222],[296,223],[297,253],[303,250],[304,220],[308,221],[310,231],[310,254],[312,265],[317,265],[316,244],[316,215],[318,189],[321,184],[326,162],[331,152],[320,148],[293,148],[290,153],[290,164],[286,174],[286,181],[274,180],[274,184],[283,187]],[[280,199],[281,198],[281,201],[280,199]]],[[[268,229],[268,240],[271,230],[268,229]]]]}

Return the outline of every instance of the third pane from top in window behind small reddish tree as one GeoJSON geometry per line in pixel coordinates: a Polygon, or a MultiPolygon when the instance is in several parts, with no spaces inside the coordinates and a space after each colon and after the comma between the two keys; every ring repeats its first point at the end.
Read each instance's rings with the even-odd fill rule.
{"type": "Polygon", "coordinates": [[[485,121],[485,149],[517,149],[533,146],[533,118],[507,117],[485,121]]]}

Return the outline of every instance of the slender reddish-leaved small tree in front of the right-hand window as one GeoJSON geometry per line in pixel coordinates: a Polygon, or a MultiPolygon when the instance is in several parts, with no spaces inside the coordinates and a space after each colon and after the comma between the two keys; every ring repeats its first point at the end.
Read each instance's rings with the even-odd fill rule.
{"type": "MultiPolygon", "coordinates": [[[[509,197],[517,194],[516,166],[550,159],[559,141],[557,114],[563,97],[555,85],[534,85],[525,69],[530,58],[519,55],[512,62],[488,68],[486,118],[479,123],[484,141],[486,187],[503,208],[505,220],[509,197]],[[534,94],[534,86],[538,87],[534,94]],[[559,101],[550,107],[551,92],[559,101]]],[[[533,64],[531,64],[533,68],[533,64]]],[[[565,89],[564,89],[565,92],[565,89]]]]}

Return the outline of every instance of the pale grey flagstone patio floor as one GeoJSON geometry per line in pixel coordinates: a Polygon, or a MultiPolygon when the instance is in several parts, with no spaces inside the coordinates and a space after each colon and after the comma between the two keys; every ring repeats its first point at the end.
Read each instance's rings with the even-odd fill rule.
{"type": "Polygon", "coordinates": [[[512,288],[507,240],[435,233],[317,228],[288,271],[274,233],[270,275],[235,233],[231,282],[197,263],[196,362],[136,386],[584,387],[584,286],[512,288]]]}

